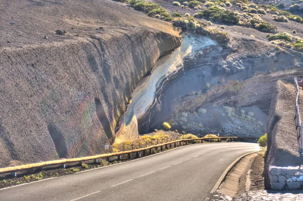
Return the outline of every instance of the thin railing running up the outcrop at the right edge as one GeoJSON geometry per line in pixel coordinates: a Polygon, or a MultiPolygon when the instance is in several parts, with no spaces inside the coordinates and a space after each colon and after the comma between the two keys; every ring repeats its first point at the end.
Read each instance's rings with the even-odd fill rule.
{"type": "Polygon", "coordinates": [[[299,143],[299,153],[302,154],[303,153],[303,149],[302,149],[302,145],[303,145],[303,137],[302,137],[302,121],[301,121],[301,116],[300,116],[300,109],[299,109],[299,105],[300,105],[300,90],[299,90],[299,82],[297,78],[294,78],[294,86],[295,86],[295,117],[294,120],[296,120],[296,127],[295,129],[297,130],[298,133],[298,141],[299,139],[301,139],[301,143],[299,143]]]}

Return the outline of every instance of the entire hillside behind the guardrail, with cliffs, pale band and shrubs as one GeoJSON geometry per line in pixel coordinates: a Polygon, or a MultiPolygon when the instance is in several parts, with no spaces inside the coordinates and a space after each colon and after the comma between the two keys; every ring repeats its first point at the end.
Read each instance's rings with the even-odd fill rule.
{"type": "Polygon", "coordinates": [[[104,153],[165,121],[263,135],[276,81],[302,75],[303,20],[173,2],[2,0],[0,166],[104,153]]]}

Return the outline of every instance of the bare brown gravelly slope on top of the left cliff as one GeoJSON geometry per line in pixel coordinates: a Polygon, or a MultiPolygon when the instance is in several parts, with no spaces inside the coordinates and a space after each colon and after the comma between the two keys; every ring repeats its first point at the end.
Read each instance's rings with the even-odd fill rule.
{"type": "Polygon", "coordinates": [[[173,29],[167,29],[168,25],[111,0],[0,0],[0,51],[142,27],[166,29],[177,35],[173,29]],[[105,31],[96,30],[100,27],[105,31]],[[67,34],[56,35],[57,29],[67,34]]]}

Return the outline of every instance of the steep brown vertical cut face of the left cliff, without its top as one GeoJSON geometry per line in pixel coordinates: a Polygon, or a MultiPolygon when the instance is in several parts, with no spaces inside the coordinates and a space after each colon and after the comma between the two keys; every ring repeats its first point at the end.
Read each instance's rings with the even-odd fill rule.
{"type": "Polygon", "coordinates": [[[136,84],[179,46],[141,28],[0,52],[0,167],[103,153],[136,84]]]}

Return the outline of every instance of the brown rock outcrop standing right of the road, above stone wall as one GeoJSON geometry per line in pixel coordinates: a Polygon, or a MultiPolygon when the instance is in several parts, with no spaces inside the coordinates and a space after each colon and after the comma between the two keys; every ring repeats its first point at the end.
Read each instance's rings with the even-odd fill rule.
{"type": "MultiPolygon", "coordinates": [[[[302,74],[300,74],[302,75],[302,74]]],[[[300,100],[303,99],[300,93],[300,100]]],[[[303,106],[300,104],[300,110],[303,106]]],[[[265,184],[271,188],[270,176],[277,173],[270,173],[270,166],[276,167],[300,167],[302,158],[299,156],[299,144],[297,140],[295,116],[295,90],[294,85],[278,81],[273,95],[268,115],[267,124],[267,153],[265,161],[265,184]]],[[[277,168],[272,168],[277,169],[277,168]]],[[[287,168],[285,168],[287,170],[287,168]]],[[[293,168],[295,170],[295,168],[293,168]]],[[[284,168],[283,168],[284,170],[284,168]]],[[[296,170],[298,171],[298,170],[296,170]]],[[[281,173],[281,170],[280,170],[281,173]]],[[[291,175],[293,176],[293,175],[291,175]]],[[[288,177],[289,178],[289,177],[288,177]]],[[[284,184],[285,182],[283,182],[284,184]]],[[[285,185],[285,184],[284,184],[285,185]]],[[[282,189],[282,186],[280,189],[282,189]]],[[[277,188],[276,188],[277,189],[277,188]]]]}

